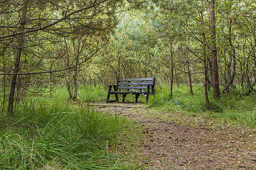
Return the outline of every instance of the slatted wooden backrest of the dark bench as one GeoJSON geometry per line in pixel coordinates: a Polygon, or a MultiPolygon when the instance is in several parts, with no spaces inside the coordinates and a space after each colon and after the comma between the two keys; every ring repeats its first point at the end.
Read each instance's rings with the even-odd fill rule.
{"type": "Polygon", "coordinates": [[[117,79],[117,89],[147,89],[154,92],[155,78],[117,79]]]}

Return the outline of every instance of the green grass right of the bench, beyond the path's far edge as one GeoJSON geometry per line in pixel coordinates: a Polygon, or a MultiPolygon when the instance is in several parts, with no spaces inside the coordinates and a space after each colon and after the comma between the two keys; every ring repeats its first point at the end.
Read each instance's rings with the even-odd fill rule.
{"type": "Polygon", "coordinates": [[[238,94],[225,94],[216,100],[210,92],[208,106],[205,102],[204,88],[195,86],[194,94],[189,94],[189,88],[180,86],[174,88],[173,97],[170,89],[164,84],[156,87],[156,95],[151,96],[148,105],[167,111],[186,111],[202,113],[208,118],[218,118],[221,121],[256,128],[255,108],[256,97],[254,93],[247,96],[238,94]]]}

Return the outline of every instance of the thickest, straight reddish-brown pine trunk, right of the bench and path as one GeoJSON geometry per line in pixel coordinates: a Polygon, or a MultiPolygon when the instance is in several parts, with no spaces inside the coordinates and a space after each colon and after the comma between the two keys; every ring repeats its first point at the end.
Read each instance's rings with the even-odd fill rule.
{"type": "Polygon", "coordinates": [[[217,47],[216,47],[216,22],[214,12],[215,0],[210,4],[210,25],[212,29],[212,82],[214,98],[220,99],[220,87],[218,82],[218,62],[217,62],[217,47]]]}

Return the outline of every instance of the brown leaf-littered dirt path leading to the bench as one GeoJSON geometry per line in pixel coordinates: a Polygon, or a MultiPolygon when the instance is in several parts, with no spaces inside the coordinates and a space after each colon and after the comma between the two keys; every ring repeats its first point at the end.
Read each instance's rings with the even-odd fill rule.
{"type": "Polygon", "coordinates": [[[130,154],[129,163],[138,164],[138,169],[256,169],[255,129],[184,112],[162,112],[144,104],[94,106],[141,127],[131,130],[136,139],[121,134],[116,149],[120,156],[130,154]],[[132,151],[127,153],[127,148],[132,151]]]}

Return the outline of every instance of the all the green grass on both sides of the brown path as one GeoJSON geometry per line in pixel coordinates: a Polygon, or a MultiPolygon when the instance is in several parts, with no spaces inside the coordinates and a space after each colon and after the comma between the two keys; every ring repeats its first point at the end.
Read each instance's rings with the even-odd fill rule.
{"type": "MultiPolygon", "coordinates": [[[[203,116],[229,124],[256,128],[255,94],[226,94],[205,104],[201,86],[170,90],[160,84],[148,105],[168,114],[203,116]]],[[[80,87],[78,100],[69,100],[68,91],[57,86],[52,96],[27,96],[19,101],[12,117],[0,114],[0,169],[137,169],[134,143],[140,137],[139,124],[126,118],[97,112],[87,102],[105,101],[108,90],[80,87]],[[125,146],[123,146],[125,145],[125,146]],[[121,148],[121,149],[120,149],[121,148]],[[118,150],[118,151],[117,151],[118,150]]],[[[126,97],[135,101],[134,95],[126,97]]],[[[145,102],[140,96],[139,101],[145,102]]],[[[129,100],[128,100],[129,101],[129,100]]]]}

